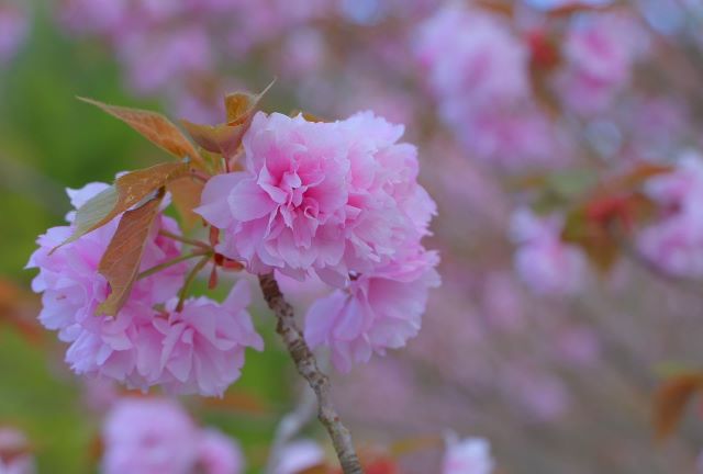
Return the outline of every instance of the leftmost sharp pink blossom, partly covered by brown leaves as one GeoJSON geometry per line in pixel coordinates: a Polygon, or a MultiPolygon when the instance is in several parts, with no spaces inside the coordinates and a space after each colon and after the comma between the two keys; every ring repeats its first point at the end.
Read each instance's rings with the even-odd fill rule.
{"type": "MultiPolygon", "coordinates": [[[[69,190],[71,203],[80,206],[104,190],[107,184],[91,183],[81,190],[69,190]]],[[[68,214],[69,223],[75,213],[68,214]]],[[[136,370],[140,328],[153,316],[152,306],[171,297],[182,284],[183,264],[169,268],[158,276],[138,280],[130,300],[116,316],[96,315],[98,305],[109,294],[109,285],[98,272],[98,264],[112,238],[119,219],[100,227],[78,240],[56,248],[72,233],[72,225],[54,227],[37,240],[40,248],[32,255],[29,268],[40,273],[32,289],[42,293],[40,321],[70,346],[66,361],[79,374],[104,376],[144,386],[147,382],[136,370]]],[[[170,260],[180,247],[158,236],[159,228],[178,232],[176,223],[158,217],[147,241],[142,270],[170,260]]]]}

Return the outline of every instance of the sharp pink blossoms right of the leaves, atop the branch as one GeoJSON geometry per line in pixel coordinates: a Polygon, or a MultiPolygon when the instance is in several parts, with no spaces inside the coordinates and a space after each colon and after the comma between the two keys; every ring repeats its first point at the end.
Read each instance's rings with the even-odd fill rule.
{"type": "Polygon", "coordinates": [[[345,372],[415,336],[439,283],[421,244],[435,204],[402,134],[371,112],[333,123],[258,113],[245,170],[210,180],[197,210],[221,229],[217,251],[252,272],[335,289],[311,306],[305,338],[345,372]]]}

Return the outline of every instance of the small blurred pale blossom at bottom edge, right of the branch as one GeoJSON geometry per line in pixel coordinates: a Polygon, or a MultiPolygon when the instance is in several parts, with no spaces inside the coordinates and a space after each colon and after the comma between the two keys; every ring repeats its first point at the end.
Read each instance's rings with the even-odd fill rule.
{"type": "Polygon", "coordinates": [[[442,474],[491,474],[494,469],[491,445],[483,438],[449,437],[442,474]]]}

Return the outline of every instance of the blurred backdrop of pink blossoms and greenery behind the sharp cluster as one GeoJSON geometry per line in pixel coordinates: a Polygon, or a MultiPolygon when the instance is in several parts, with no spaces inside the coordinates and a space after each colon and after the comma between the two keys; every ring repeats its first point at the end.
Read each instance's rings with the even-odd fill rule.
{"type": "MultiPolygon", "coordinates": [[[[97,470],[114,393],[65,368],[23,267],[66,187],[164,157],[76,95],[216,123],[223,93],[277,78],[265,111],[405,124],[439,206],[444,283],[421,335],[333,377],[359,444],[409,474],[438,472],[448,431],[490,440],[501,473],[695,473],[695,413],[662,444],[651,410],[703,356],[701,213],[683,250],[643,242],[661,213],[617,258],[563,229],[599,183],[700,159],[702,22],[695,0],[0,0],[0,424],[40,473],[97,470]]],[[[291,291],[302,314],[316,289],[291,291]]],[[[182,402],[258,473],[301,385],[254,314],[267,350],[222,400],[182,402]]]]}

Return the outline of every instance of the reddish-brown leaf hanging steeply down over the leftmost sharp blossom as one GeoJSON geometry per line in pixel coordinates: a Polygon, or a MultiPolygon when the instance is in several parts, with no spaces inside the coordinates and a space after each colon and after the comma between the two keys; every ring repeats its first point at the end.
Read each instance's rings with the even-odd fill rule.
{"type": "Polygon", "coordinates": [[[98,271],[110,283],[110,295],[98,306],[98,314],[116,315],[130,297],[163,198],[164,189],[155,199],[125,212],[120,219],[118,230],[98,266],[98,271]]]}

